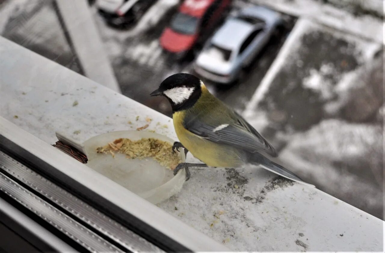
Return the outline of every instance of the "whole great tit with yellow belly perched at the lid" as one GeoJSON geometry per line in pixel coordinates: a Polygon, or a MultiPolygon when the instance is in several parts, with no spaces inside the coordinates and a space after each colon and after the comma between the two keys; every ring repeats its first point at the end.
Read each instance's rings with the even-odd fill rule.
{"type": "Polygon", "coordinates": [[[276,157],[277,153],[253,126],[214,97],[194,75],[171,75],[150,95],[162,95],[171,103],[174,128],[180,141],[174,143],[173,149],[186,148],[205,163],[180,163],[174,175],[184,168],[188,180],[189,167],[236,168],[251,163],[305,183],[291,171],[262,155],[276,157]]]}

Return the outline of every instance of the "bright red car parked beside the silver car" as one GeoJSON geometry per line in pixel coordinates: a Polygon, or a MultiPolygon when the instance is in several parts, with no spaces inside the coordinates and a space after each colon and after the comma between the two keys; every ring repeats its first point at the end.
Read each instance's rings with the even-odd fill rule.
{"type": "Polygon", "coordinates": [[[231,0],[185,0],[160,37],[162,48],[184,57],[223,18],[231,0]]]}

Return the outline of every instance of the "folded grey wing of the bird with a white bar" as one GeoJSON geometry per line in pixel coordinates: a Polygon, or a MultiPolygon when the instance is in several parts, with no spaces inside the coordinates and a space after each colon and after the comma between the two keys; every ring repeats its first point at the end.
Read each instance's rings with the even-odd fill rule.
{"type": "Polygon", "coordinates": [[[277,153],[273,146],[263,138],[238,113],[234,114],[235,121],[229,124],[209,125],[199,118],[184,122],[184,127],[195,135],[216,143],[231,145],[250,153],[264,152],[273,157],[277,153]]]}

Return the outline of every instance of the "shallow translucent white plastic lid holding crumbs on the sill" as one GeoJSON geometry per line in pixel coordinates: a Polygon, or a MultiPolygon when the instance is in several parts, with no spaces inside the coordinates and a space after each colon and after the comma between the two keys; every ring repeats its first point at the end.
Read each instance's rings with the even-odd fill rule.
{"type": "MultiPolygon", "coordinates": [[[[140,140],[142,138],[156,138],[167,141],[171,145],[174,141],[167,136],[147,131],[115,131],[97,135],[83,143],[87,155],[87,166],[110,178],[119,185],[136,193],[142,198],[157,204],[178,193],[186,180],[186,171],[180,170],[174,176],[173,171],[161,166],[152,158],[129,159],[126,155],[115,153],[115,158],[110,154],[97,153],[96,148],[105,146],[119,138],[140,140]]],[[[181,161],[186,157],[182,148],[178,152],[181,161]]]]}

